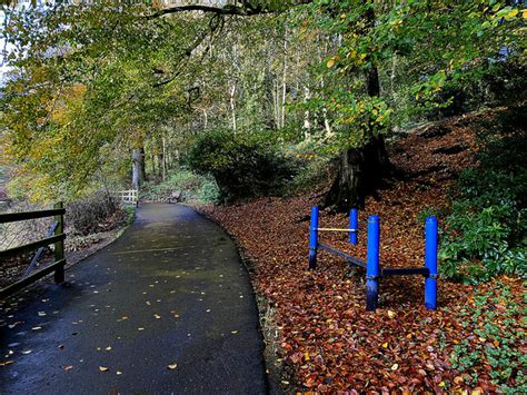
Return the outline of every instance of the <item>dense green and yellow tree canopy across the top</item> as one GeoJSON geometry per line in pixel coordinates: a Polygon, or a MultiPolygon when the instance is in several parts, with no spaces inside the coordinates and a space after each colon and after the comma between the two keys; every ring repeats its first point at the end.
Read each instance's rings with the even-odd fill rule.
{"type": "Polygon", "coordinates": [[[130,149],[185,150],[210,128],[276,130],[349,159],[394,128],[495,99],[525,66],[526,12],[506,1],[218,4],[4,7],[16,182],[36,199],[74,196],[126,178],[130,149]]]}

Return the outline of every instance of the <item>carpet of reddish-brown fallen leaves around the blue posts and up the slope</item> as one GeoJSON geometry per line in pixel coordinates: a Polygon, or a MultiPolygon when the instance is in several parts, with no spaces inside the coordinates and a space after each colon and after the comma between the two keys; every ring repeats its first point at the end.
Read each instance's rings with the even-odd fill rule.
{"type": "MultiPolygon", "coordinates": [[[[421,213],[448,209],[453,179],[475,165],[469,124],[470,117],[460,117],[395,142],[390,150],[398,175],[360,213],[359,245],[351,248],[342,235],[324,234],[324,240],[365,258],[366,221],[376,214],[381,219],[381,266],[422,266],[421,213]]],[[[525,292],[521,282],[501,277],[476,288],[439,280],[439,308],[429,312],[422,278],[389,278],[380,284],[380,307],[367,313],[364,273],[350,271],[324,251],[317,270],[307,269],[309,209],[322,191],[206,210],[239,241],[255,268],[257,294],[275,312],[270,325],[279,335],[268,335],[266,343],[278,344],[274,363],[285,372],[284,388],[497,391],[491,379],[501,372],[494,359],[507,357],[509,346],[519,347],[519,354],[526,350],[525,337],[509,336],[523,333],[517,308],[525,292]]],[[[346,227],[348,221],[329,210],[320,218],[322,227],[346,227]]]]}

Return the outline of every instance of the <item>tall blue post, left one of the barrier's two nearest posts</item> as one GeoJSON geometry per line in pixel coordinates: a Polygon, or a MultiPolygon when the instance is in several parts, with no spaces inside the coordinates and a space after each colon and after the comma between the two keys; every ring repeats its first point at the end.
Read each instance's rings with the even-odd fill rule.
{"type": "Polygon", "coordinates": [[[366,253],[366,309],[375,312],[379,299],[379,241],[378,216],[368,218],[368,250],[366,253]]]}

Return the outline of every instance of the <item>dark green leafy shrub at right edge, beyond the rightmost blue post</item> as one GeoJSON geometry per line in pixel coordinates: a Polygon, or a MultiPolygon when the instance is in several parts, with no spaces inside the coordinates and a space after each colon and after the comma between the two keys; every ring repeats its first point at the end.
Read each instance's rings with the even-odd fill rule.
{"type": "Polygon", "coordinates": [[[478,283],[497,274],[527,275],[527,140],[521,122],[525,115],[517,109],[483,126],[480,167],[460,175],[445,221],[440,258],[446,277],[478,283]]]}

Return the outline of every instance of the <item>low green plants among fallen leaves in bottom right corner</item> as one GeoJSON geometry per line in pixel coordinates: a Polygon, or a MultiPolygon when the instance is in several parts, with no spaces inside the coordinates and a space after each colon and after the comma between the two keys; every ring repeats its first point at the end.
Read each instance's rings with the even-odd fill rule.
{"type": "Polygon", "coordinates": [[[474,333],[454,346],[450,363],[466,374],[469,386],[476,386],[478,381],[474,367],[488,364],[490,382],[498,393],[524,394],[527,357],[518,346],[526,340],[526,300],[518,303],[510,288],[500,283],[495,287],[495,292],[476,292],[475,308],[461,310],[463,326],[474,328],[474,333]]]}

